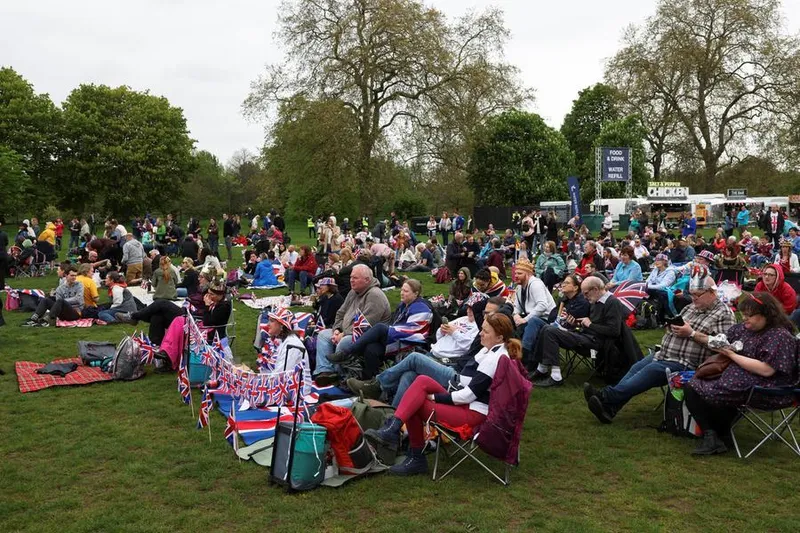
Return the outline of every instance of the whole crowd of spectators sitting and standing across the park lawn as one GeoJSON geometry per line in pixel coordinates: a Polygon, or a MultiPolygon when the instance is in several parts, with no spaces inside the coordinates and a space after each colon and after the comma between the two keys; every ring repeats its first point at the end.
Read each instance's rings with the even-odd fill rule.
{"type": "MultiPolygon", "coordinates": [[[[602,423],[611,423],[634,396],[666,385],[667,370],[694,370],[712,353],[726,357],[730,364],[722,376],[714,383],[692,380],[686,400],[705,429],[695,453],[721,453],[729,446],[733,410],[753,385],[796,384],[798,377],[792,331],[800,312],[786,280],[800,274],[800,236],[772,207],[759,219],[764,237],[756,237],[746,226],[749,213],[741,215],[746,211],[732,228],[728,214],[708,242],[691,216],[668,227],[663,213],[654,214],[651,224],[640,212],[633,213],[635,224],[622,238],[615,236],[610,217],[593,235],[577,217],[562,224],[554,212],[539,210],[514,213],[511,227],[501,233],[491,224],[479,230],[471,217],[453,210],[438,220],[431,216],[424,236],[395,213],[372,226],[367,217],[340,224],[330,213],[308,217],[314,246],[291,244],[275,212],[246,213],[246,235],[239,215],[223,215],[222,241],[215,219],[206,228],[191,219],[184,231],[171,215],[146,215],[133,221],[131,232],[109,219],[97,236],[86,219],[74,219],[70,232],[73,223],[80,226],[77,246],[70,240],[75,261],[58,266],[58,287],[37,302],[25,325],[86,316],[145,321],[169,371],[180,356],[185,315],[174,300],[187,298],[209,335],[224,336],[231,312],[226,275],[239,266],[231,249],[243,244],[246,281],[275,285],[273,267],[280,265],[296,303],[306,291],[313,294],[314,321],[306,341],[297,341],[302,354],[296,357],[309,377],[396,407],[384,428],[367,432],[376,443],[396,448],[405,425],[409,451],[405,462],[392,467],[396,474],[427,470],[422,425],[432,410],[456,426],[475,426],[486,417],[501,357],[521,360],[529,379],[546,390],[564,383],[562,349],[603,352],[611,344],[621,346],[631,363],[613,384],[596,389],[587,383],[583,389],[588,411],[602,423]],[[734,228],[738,237],[729,231],[734,228]],[[227,264],[220,261],[220,243],[227,264]],[[170,256],[181,258],[180,268],[170,256]],[[430,272],[449,284],[447,294],[423,294],[418,276],[406,272],[430,272]],[[752,294],[738,302],[720,298],[724,281],[741,285],[753,277],[752,294]],[[108,287],[109,304],[98,303],[98,278],[108,287]],[[631,313],[614,295],[628,281],[643,283],[656,325],[665,327],[660,349],[647,357],[626,337],[631,313]],[[135,285],[153,291],[151,305],[136,305],[129,290],[135,285]],[[383,290],[390,286],[400,289],[394,312],[383,290]],[[731,305],[741,312],[741,324],[731,305]],[[721,334],[730,342],[712,348],[710,339],[718,343],[721,334]],[[735,340],[743,341],[742,350],[733,351],[735,340]],[[387,362],[395,364],[383,369],[387,362]]],[[[48,242],[50,226],[44,232],[48,242]]],[[[28,229],[20,226],[12,242],[24,247],[28,229]]],[[[3,236],[0,231],[5,251],[3,236]]],[[[15,261],[18,256],[4,258],[12,267],[15,261]]],[[[290,336],[287,313],[269,314],[270,335],[290,336]]],[[[774,400],[761,404],[771,408],[774,400]]]]}

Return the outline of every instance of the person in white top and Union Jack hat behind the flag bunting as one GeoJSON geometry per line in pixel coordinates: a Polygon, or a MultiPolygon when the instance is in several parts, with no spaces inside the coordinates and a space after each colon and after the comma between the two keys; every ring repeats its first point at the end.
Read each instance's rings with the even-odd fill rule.
{"type": "Polygon", "coordinates": [[[294,314],[285,307],[278,307],[267,314],[267,334],[280,340],[278,348],[264,361],[259,361],[262,372],[290,372],[297,365],[303,367],[302,391],[306,396],[311,394],[311,364],[308,350],[294,331],[294,314]]]}

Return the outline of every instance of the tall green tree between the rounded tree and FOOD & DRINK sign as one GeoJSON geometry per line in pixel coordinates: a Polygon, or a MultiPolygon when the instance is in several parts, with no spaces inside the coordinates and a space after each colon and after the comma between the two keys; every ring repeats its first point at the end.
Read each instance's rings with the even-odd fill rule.
{"type": "Polygon", "coordinates": [[[620,118],[618,95],[610,86],[597,83],[578,93],[572,109],[564,117],[561,134],[575,153],[581,178],[594,177],[595,139],[603,127],[620,118]]]}

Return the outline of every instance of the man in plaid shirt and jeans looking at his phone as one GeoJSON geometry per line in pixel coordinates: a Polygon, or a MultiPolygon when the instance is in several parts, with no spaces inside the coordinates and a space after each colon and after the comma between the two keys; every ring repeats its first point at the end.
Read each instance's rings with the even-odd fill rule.
{"type": "Polygon", "coordinates": [[[717,285],[707,269],[694,270],[688,292],[692,303],[683,308],[677,317],[680,320],[676,318],[667,326],[661,350],[634,364],[616,385],[597,390],[583,384],[589,411],[600,422],[610,424],[631,398],[666,385],[666,370],[695,370],[712,354],[708,338],[725,333],[736,323],[731,310],[717,296],[717,285]]]}

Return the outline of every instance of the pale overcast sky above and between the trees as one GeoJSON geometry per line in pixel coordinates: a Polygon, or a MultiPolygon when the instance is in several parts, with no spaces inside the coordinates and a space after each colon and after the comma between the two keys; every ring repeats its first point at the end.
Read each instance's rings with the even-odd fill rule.
{"type": "MultiPolygon", "coordinates": [[[[279,0],[0,1],[0,65],[60,104],[80,83],[129,85],[184,109],[197,147],[227,161],[257,151],[262,125],[241,103],[264,65],[280,60],[273,40],[279,0]]],[[[580,89],[600,81],[623,29],[655,11],[656,0],[429,0],[458,16],[499,6],[510,63],[536,90],[533,111],[553,127],[580,89]]],[[[784,0],[789,31],[800,0],[784,0]]]]}

